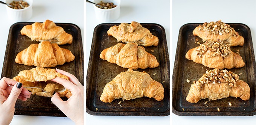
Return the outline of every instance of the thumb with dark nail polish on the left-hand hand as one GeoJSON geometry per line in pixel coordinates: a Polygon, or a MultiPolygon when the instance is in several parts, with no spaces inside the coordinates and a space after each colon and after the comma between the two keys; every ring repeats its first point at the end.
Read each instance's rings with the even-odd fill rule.
{"type": "Polygon", "coordinates": [[[23,86],[23,84],[18,82],[14,85],[14,87],[12,87],[11,93],[5,101],[5,103],[8,104],[10,107],[15,106],[18,96],[21,93],[22,86],[23,86]]]}

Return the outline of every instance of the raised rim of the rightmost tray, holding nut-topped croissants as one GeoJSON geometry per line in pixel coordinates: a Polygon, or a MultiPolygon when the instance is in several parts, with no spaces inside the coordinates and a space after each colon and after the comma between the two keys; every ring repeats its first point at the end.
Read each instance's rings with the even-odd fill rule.
{"type": "MultiPolygon", "coordinates": [[[[189,25],[194,25],[194,24],[203,24],[203,23],[187,23],[184,24],[183,26],[181,26],[180,30],[179,30],[179,36],[178,36],[178,42],[177,42],[177,48],[176,48],[176,54],[175,54],[175,61],[174,61],[174,68],[173,71],[176,71],[178,69],[178,66],[180,64],[178,64],[178,60],[180,59],[181,56],[179,56],[180,53],[178,53],[178,51],[180,50],[180,46],[181,46],[181,32],[183,31],[184,28],[186,28],[189,25]]],[[[253,44],[252,42],[252,38],[251,38],[251,30],[250,28],[242,23],[227,23],[227,24],[239,24],[243,27],[245,27],[248,30],[248,41],[251,41],[249,43],[253,44]]],[[[254,55],[254,50],[253,50],[253,45],[251,45],[251,55],[252,55],[252,65],[256,65],[255,62],[255,55],[254,55]]],[[[180,70],[178,70],[180,71],[180,70]]],[[[253,67],[253,71],[256,71],[256,67],[253,67]]],[[[175,74],[172,74],[172,95],[174,95],[174,92],[176,92],[177,90],[174,89],[174,84],[176,82],[176,78],[178,77],[177,74],[179,74],[180,72],[176,72],[175,74]],[[175,90],[175,91],[174,91],[175,90]]],[[[256,78],[256,74],[254,73],[254,78],[256,78]]],[[[172,104],[174,103],[174,96],[172,96],[172,104]]],[[[204,112],[198,112],[198,111],[177,111],[174,106],[172,105],[172,113],[178,115],[178,116],[254,116],[256,114],[256,109],[251,111],[251,112],[209,112],[209,111],[204,111],[204,112]]]]}

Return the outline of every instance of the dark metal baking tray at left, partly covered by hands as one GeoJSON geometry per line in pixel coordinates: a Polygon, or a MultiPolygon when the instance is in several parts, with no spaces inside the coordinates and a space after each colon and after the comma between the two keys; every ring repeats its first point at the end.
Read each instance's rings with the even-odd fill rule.
{"type": "MultiPolygon", "coordinates": [[[[26,66],[15,63],[16,55],[29,47],[30,44],[39,44],[39,42],[31,41],[27,36],[22,36],[20,30],[23,26],[32,24],[29,22],[15,23],[10,27],[8,41],[5,51],[5,59],[3,62],[2,77],[13,78],[22,70],[30,70],[35,66],[26,66]]],[[[75,60],[64,65],[58,65],[52,69],[58,68],[70,72],[75,75],[81,84],[84,84],[84,53],[82,46],[81,30],[75,24],[55,23],[61,26],[67,33],[73,36],[72,44],[59,45],[61,48],[70,50],[75,60]]],[[[31,95],[27,101],[18,100],[15,104],[16,115],[32,115],[32,116],[66,116],[58,107],[52,104],[51,98],[31,95]]],[[[67,98],[63,98],[67,99],[67,98]]]]}

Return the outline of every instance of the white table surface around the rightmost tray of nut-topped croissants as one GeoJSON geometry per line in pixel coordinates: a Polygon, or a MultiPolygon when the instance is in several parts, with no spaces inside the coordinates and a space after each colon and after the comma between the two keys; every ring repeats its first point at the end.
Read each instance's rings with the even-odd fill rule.
{"type": "MultiPolygon", "coordinates": [[[[256,52],[256,1],[255,0],[173,0],[171,76],[181,26],[187,23],[204,23],[221,19],[226,23],[243,23],[251,29],[254,53],[256,52]]],[[[173,125],[238,125],[256,122],[256,116],[177,116],[172,113],[173,125]]]]}

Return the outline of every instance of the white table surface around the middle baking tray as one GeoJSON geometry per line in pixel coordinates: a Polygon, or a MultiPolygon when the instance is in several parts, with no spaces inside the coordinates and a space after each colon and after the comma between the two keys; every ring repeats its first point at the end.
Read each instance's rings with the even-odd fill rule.
{"type": "MultiPolygon", "coordinates": [[[[157,23],[165,28],[168,50],[170,48],[170,1],[169,0],[121,0],[121,13],[119,19],[113,23],[157,23]]],[[[84,47],[85,72],[87,72],[88,59],[94,28],[100,24],[94,16],[93,5],[86,4],[86,42],[84,47]]],[[[169,125],[170,116],[92,116],[85,113],[87,125],[169,125]]]]}

